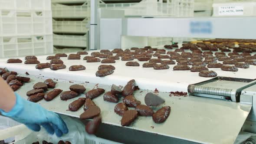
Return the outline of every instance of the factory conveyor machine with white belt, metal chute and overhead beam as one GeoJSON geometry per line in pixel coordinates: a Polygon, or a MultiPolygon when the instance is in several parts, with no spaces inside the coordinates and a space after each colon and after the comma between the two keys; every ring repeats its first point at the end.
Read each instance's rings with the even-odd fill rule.
{"type": "MultiPolygon", "coordinates": [[[[96,12],[96,23],[91,25],[91,49],[145,46],[144,43],[139,43],[138,39],[142,38],[138,36],[256,39],[256,29],[253,29],[255,17],[127,18],[121,10],[99,9],[96,12]],[[134,43],[131,43],[133,40],[134,43]]],[[[95,51],[98,50],[89,51],[89,55],[95,51]]],[[[46,56],[37,58],[41,63],[47,62],[46,56]]],[[[119,60],[113,64],[116,67],[115,72],[101,78],[95,76],[98,65],[101,65],[99,63],[86,63],[85,71],[70,72],[68,69],[38,70],[35,65],[7,64],[6,60],[0,60],[1,67],[31,78],[30,83],[17,91],[24,98],[26,91],[33,88],[33,84],[47,78],[58,80],[56,88],[62,90],[68,90],[72,84],[80,84],[85,86],[86,91],[99,87],[104,88],[106,92],[110,91],[112,84],[124,86],[129,80],[135,79],[140,90],[135,91],[134,95],[142,104],[148,92],[157,90],[158,95],[165,100],[164,105],[171,106],[171,114],[164,123],[155,124],[151,117],[139,117],[131,126],[122,127],[121,117],[114,112],[116,104],[106,102],[102,97],[95,98],[95,103],[102,110],[102,125],[96,134],[98,137],[125,144],[256,142],[254,65],[250,65],[249,69],[239,69],[238,72],[213,69],[217,72],[217,77],[203,78],[199,77],[197,72],[173,71],[172,66],[165,70],[143,69],[127,67],[125,61],[119,60]],[[25,72],[30,75],[25,75],[25,72]],[[188,92],[189,96],[169,96],[169,92],[176,91],[188,92]]],[[[67,67],[85,63],[82,59],[63,58],[62,61],[67,67]]],[[[49,102],[40,101],[39,104],[50,111],[79,118],[83,112],[82,108],[75,112],[66,111],[71,101],[56,98],[49,102]]]]}

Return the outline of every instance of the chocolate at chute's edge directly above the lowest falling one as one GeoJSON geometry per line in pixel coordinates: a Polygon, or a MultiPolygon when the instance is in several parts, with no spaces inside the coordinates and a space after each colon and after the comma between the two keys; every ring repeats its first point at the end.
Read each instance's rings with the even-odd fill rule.
{"type": "Polygon", "coordinates": [[[99,114],[100,114],[100,108],[97,105],[92,105],[80,115],[80,119],[94,118],[99,114]]]}

